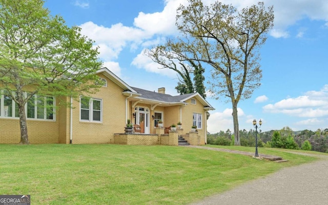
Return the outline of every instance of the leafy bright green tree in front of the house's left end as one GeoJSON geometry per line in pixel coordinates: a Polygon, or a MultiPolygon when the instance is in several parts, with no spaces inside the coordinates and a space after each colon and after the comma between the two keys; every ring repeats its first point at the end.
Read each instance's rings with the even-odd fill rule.
{"type": "MultiPolygon", "coordinates": [[[[0,86],[18,107],[20,144],[29,144],[25,106],[36,94],[77,98],[99,87],[98,48],[43,6],[42,0],[0,0],[0,86]]],[[[55,106],[49,100],[46,106],[55,106]]]]}

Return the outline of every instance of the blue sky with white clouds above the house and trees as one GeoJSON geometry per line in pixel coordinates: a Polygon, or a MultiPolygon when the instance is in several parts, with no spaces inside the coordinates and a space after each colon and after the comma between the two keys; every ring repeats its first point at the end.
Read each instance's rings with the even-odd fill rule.
{"type": "MultiPolygon", "coordinates": [[[[221,2],[238,9],[257,3],[221,2]]],[[[262,131],[285,126],[294,131],[328,128],[328,1],[263,2],[274,6],[275,26],[260,50],[262,85],[238,104],[239,129],[253,129],[254,118],[262,119],[262,131]]],[[[178,34],[175,14],[179,4],[186,0],[48,0],[45,7],[95,40],[104,66],[128,85],[155,91],[165,87],[167,94],[177,95],[176,74],[158,69],[142,51],[178,34]]],[[[233,130],[227,98],[207,100],[216,109],[211,111],[208,131],[233,130]]]]}

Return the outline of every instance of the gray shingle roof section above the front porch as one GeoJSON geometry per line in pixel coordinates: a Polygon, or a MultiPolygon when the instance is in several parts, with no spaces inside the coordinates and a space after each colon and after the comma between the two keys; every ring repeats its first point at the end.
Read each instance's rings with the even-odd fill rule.
{"type": "Polygon", "coordinates": [[[184,95],[172,96],[169,94],[157,93],[155,91],[149,91],[149,90],[144,90],[144,89],[135,88],[135,87],[131,87],[131,88],[133,88],[135,91],[137,91],[139,94],[141,94],[140,97],[142,97],[142,98],[164,101],[167,103],[177,103],[177,102],[179,102],[183,99],[186,99],[195,94],[195,93],[189,93],[189,94],[184,94],[184,95]]]}

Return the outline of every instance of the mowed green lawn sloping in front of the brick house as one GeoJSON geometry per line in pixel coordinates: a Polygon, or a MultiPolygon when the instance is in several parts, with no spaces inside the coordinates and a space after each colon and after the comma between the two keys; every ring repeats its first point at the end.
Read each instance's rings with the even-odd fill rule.
{"type": "Polygon", "coordinates": [[[290,161],[188,147],[0,145],[0,194],[29,194],[31,204],[186,204],[316,159],[259,152],[290,161]]]}

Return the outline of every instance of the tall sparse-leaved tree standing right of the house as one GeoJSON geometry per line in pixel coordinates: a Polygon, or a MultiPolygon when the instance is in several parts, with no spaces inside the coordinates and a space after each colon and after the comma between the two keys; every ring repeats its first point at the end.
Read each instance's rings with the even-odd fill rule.
{"type": "Polygon", "coordinates": [[[273,20],[273,7],[265,8],[261,2],[238,11],[220,2],[206,6],[201,0],[189,0],[188,6],[177,9],[180,37],[156,47],[180,61],[200,62],[211,71],[212,93],[216,98],[228,97],[232,104],[235,145],[240,145],[237,106],[260,86],[259,49],[273,20]]]}

